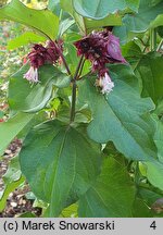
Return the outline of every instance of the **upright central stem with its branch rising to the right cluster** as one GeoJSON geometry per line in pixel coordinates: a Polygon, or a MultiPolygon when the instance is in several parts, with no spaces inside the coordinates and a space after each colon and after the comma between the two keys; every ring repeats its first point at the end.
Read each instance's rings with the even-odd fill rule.
{"type": "Polygon", "coordinates": [[[75,107],[76,107],[76,81],[77,81],[77,77],[78,77],[78,73],[80,72],[80,66],[83,64],[83,59],[84,59],[84,55],[82,55],[80,60],[79,60],[79,63],[77,65],[77,69],[76,69],[76,72],[75,72],[75,75],[72,79],[72,83],[73,83],[73,90],[72,90],[72,107],[71,107],[71,118],[70,118],[70,123],[74,122],[75,120],[75,107]]]}

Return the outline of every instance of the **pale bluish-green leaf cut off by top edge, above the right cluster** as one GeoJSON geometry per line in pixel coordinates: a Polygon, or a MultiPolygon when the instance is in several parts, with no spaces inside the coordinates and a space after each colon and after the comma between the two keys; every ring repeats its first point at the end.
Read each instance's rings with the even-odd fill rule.
{"type": "Polygon", "coordinates": [[[93,0],[93,4],[88,0],[73,0],[73,4],[75,11],[80,15],[99,20],[120,10],[130,9],[137,11],[139,0],[93,0]]]}

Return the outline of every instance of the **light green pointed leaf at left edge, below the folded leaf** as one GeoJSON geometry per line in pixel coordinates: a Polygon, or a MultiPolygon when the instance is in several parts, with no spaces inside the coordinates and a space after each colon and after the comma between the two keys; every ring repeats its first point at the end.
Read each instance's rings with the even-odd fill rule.
{"type": "Polygon", "coordinates": [[[17,113],[15,116],[7,122],[0,124],[0,154],[12,139],[30,122],[34,114],[28,113],[17,113]]]}

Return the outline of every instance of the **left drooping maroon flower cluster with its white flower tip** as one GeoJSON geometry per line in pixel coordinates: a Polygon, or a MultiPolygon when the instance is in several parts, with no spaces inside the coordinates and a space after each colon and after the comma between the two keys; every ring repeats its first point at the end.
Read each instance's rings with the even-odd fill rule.
{"type": "Polygon", "coordinates": [[[63,50],[62,41],[59,41],[58,45],[54,41],[48,41],[46,47],[38,44],[35,45],[32,52],[27,55],[27,59],[30,62],[30,69],[24,74],[24,78],[32,83],[39,82],[38,69],[46,63],[57,63],[60,59],[60,50],[63,50]]]}

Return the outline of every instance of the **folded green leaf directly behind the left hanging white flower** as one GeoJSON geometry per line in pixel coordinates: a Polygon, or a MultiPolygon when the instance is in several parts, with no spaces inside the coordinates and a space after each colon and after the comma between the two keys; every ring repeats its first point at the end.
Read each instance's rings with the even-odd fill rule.
{"type": "Polygon", "coordinates": [[[9,84],[9,104],[13,110],[37,112],[49,101],[53,86],[59,88],[70,85],[71,79],[55,66],[47,64],[38,70],[40,83],[33,86],[23,75],[28,71],[28,64],[12,75],[9,84]]]}

